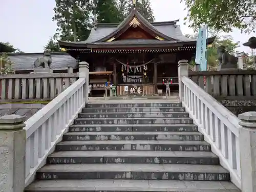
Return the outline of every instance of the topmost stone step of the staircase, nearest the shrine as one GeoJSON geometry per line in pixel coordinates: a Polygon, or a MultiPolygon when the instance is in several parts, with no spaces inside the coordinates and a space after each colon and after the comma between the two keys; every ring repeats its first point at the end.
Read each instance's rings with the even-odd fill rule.
{"type": "Polygon", "coordinates": [[[181,103],[88,103],[86,108],[172,108],[181,107],[181,103]]]}

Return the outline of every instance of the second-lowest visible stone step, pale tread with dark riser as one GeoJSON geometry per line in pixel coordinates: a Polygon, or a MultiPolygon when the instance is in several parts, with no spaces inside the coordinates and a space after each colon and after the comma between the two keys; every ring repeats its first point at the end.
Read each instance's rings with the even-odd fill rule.
{"type": "Polygon", "coordinates": [[[220,165],[190,164],[54,164],[45,165],[37,179],[148,179],[229,181],[220,165]]]}

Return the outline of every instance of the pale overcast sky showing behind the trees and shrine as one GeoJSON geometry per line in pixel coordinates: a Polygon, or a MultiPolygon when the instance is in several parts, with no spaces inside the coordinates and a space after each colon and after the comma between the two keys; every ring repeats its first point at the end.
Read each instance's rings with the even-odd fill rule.
{"type": "MultiPolygon", "coordinates": [[[[156,22],[180,19],[182,33],[193,31],[183,26],[184,4],[180,0],[151,0],[156,22]]],[[[42,52],[48,39],[56,30],[52,22],[54,0],[0,0],[0,41],[9,41],[24,52],[42,52]]],[[[242,43],[255,34],[230,33],[235,41],[241,41],[238,51],[250,52],[242,43]]]]}

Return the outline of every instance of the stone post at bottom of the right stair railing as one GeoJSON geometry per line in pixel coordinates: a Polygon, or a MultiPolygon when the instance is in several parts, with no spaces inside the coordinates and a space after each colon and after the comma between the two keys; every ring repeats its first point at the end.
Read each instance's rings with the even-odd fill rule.
{"type": "Polygon", "coordinates": [[[241,185],[244,192],[256,192],[256,112],[239,116],[241,185]]]}

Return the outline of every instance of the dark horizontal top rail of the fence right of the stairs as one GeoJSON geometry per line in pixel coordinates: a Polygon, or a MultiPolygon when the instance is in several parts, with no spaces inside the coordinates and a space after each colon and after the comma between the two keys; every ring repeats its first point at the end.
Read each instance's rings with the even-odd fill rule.
{"type": "Polygon", "coordinates": [[[189,71],[188,76],[207,75],[254,75],[256,70],[189,71]]]}

